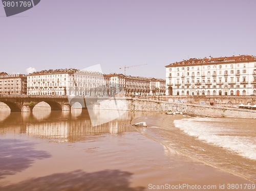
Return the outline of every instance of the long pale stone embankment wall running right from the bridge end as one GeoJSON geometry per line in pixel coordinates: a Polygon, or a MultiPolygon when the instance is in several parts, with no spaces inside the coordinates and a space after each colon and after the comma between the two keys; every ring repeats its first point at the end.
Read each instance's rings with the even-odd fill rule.
{"type": "Polygon", "coordinates": [[[99,102],[95,109],[119,109],[131,111],[183,112],[190,115],[210,117],[256,118],[256,110],[176,103],[160,100],[115,98],[99,102]]]}

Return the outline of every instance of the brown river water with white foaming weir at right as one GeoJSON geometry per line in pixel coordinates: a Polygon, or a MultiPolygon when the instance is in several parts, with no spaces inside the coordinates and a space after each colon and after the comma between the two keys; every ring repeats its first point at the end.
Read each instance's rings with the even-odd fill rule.
{"type": "Polygon", "coordinates": [[[256,190],[255,120],[0,109],[0,190],[256,190]]]}

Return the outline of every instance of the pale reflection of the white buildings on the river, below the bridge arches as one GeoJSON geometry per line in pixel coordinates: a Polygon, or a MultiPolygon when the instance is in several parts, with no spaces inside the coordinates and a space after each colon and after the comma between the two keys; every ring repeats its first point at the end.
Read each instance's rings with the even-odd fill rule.
{"type": "MultiPolygon", "coordinates": [[[[84,112],[86,112],[86,110],[84,112]]],[[[106,111],[105,113],[107,115],[106,118],[108,118],[108,115],[112,115],[112,113],[115,112],[106,111]]],[[[97,115],[97,112],[95,115],[97,115]]],[[[55,122],[47,121],[44,123],[28,124],[26,126],[26,133],[50,139],[57,138],[61,139],[61,141],[81,140],[81,137],[86,135],[122,133],[129,128],[125,126],[130,123],[131,112],[127,112],[115,121],[95,127],[92,126],[88,113],[83,113],[82,110],[71,112],[70,117],[71,120],[62,119],[61,121],[55,122]],[[82,117],[84,115],[87,117],[82,117]],[[76,117],[75,119],[74,116],[76,117]]]]}

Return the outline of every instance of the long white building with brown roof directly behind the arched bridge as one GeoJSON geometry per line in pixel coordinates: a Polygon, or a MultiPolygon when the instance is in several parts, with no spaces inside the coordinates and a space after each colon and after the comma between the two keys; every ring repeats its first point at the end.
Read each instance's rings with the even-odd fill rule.
{"type": "Polygon", "coordinates": [[[55,96],[103,96],[107,94],[104,76],[95,71],[50,69],[27,76],[28,94],[55,96]]]}

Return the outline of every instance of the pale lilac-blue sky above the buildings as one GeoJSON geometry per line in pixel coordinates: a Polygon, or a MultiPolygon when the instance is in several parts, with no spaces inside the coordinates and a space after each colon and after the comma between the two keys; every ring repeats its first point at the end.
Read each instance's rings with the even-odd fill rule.
{"type": "Polygon", "coordinates": [[[256,1],[41,0],[6,17],[0,6],[0,71],[86,68],[165,78],[187,58],[256,55],[256,1]]]}

